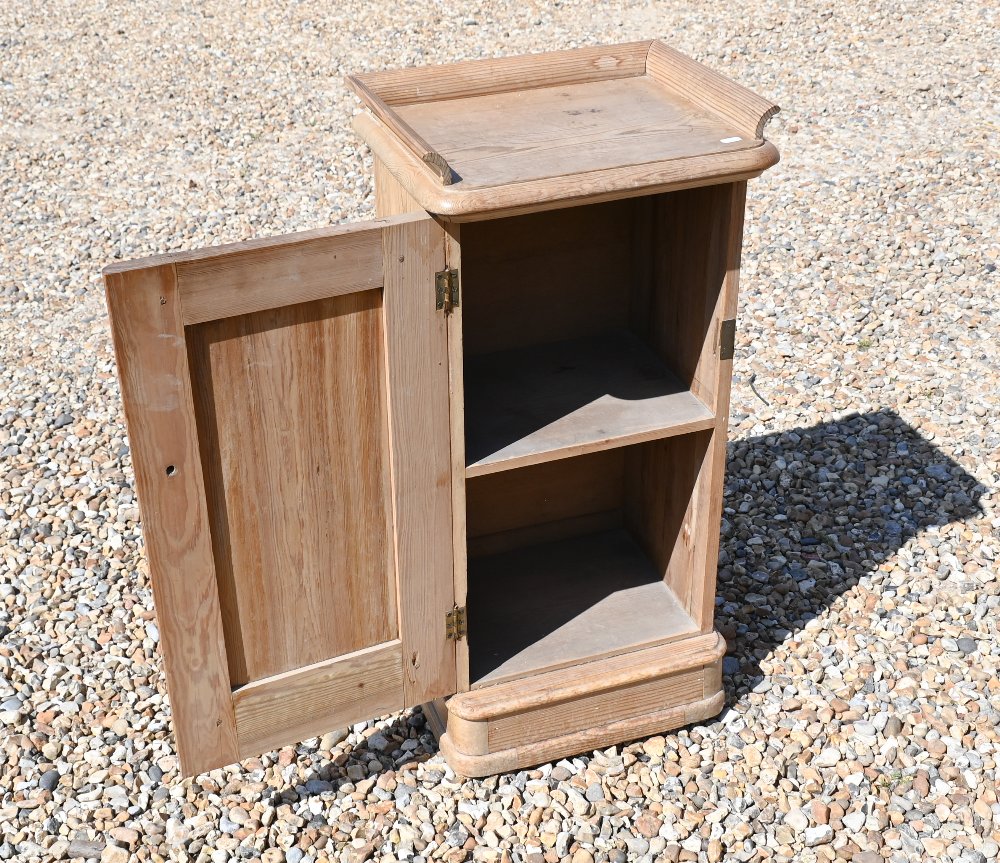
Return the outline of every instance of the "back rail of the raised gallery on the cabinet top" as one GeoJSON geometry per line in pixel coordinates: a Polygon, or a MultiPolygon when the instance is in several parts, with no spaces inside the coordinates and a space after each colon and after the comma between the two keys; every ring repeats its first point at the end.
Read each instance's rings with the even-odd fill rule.
{"type": "MultiPolygon", "coordinates": [[[[558,87],[641,75],[651,42],[596,45],[547,51],[521,57],[467,60],[348,76],[348,84],[364,84],[388,105],[459,99],[511,90],[558,87]]],[[[362,101],[365,96],[358,94],[362,101]]]]}

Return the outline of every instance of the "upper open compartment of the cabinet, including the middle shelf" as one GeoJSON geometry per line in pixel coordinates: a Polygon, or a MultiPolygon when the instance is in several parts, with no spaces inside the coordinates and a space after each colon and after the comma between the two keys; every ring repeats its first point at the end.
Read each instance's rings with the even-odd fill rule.
{"type": "Polygon", "coordinates": [[[731,194],[462,226],[467,477],[714,426],[731,194]]]}

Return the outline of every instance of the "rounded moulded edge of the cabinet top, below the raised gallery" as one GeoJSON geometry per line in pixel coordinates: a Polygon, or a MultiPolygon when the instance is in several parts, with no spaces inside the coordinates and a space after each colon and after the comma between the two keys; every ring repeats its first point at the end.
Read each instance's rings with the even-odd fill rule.
{"type": "Polygon", "coordinates": [[[358,114],[353,125],[392,175],[427,212],[456,222],[477,221],[595,204],[619,198],[748,180],[778,162],[768,141],[743,150],[586,171],[489,189],[469,189],[461,180],[443,186],[381,123],[358,114]]]}

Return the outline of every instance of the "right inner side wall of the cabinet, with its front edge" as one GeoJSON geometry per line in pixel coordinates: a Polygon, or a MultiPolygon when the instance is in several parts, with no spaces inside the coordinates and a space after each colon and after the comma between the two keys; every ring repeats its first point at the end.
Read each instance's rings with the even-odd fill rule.
{"type": "Polygon", "coordinates": [[[736,316],[745,200],[740,182],[636,208],[633,326],[715,413],[715,428],[630,454],[626,519],[704,631],[714,613],[732,374],[732,360],[720,358],[720,324],[736,316]]]}

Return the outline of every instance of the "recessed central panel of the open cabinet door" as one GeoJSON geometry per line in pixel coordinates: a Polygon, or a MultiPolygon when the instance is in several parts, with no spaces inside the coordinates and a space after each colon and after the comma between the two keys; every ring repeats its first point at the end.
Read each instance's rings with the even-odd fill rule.
{"type": "Polygon", "coordinates": [[[381,291],[186,335],[232,685],[395,638],[381,291]]]}

